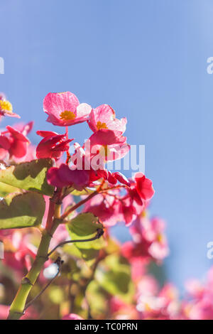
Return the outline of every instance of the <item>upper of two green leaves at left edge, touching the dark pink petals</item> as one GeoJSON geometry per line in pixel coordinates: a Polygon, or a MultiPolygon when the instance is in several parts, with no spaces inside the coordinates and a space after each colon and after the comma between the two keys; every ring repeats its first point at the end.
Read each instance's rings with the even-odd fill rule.
{"type": "Polygon", "coordinates": [[[51,159],[38,159],[0,170],[0,182],[16,188],[52,196],[54,188],[48,185],[46,174],[53,166],[51,159]]]}

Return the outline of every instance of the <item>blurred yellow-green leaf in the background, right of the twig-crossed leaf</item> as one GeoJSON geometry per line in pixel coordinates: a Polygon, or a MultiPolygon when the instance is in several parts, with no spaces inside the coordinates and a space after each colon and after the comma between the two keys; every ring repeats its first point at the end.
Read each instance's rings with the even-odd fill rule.
{"type": "Polygon", "coordinates": [[[134,287],[131,281],[131,267],[124,257],[118,254],[106,257],[100,262],[95,279],[111,295],[119,296],[128,303],[132,301],[134,287]]]}

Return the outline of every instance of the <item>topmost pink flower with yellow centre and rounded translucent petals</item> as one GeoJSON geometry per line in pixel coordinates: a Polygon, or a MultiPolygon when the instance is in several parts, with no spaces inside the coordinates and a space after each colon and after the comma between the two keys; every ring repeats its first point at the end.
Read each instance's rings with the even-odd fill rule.
{"type": "Polygon", "coordinates": [[[58,126],[69,126],[87,121],[92,108],[87,103],[80,104],[71,92],[62,92],[46,95],[43,109],[48,114],[48,122],[58,126]]]}

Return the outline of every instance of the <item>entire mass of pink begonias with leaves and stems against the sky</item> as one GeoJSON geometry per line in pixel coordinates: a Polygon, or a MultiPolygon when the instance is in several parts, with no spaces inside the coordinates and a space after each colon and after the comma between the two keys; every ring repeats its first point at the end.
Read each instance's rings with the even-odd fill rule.
{"type": "MultiPolygon", "coordinates": [[[[72,92],[48,93],[43,111],[61,131],[38,129],[37,146],[33,122],[1,128],[0,319],[213,319],[212,269],[205,283],[187,282],[182,299],[153,274],[170,251],[165,222],[149,214],[152,181],[107,168],[131,149],[126,117],[72,92]],[[82,143],[70,137],[80,123],[91,130],[82,143]],[[122,224],[125,242],[114,235],[122,224]]],[[[7,116],[19,118],[1,93],[7,116]]]]}

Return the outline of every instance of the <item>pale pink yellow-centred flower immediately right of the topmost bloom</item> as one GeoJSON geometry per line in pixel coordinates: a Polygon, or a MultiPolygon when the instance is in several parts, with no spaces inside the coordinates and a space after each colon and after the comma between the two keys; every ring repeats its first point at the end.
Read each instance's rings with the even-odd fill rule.
{"type": "Polygon", "coordinates": [[[93,132],[101,129],[109,129],[124,134],[124,131],[126,131],[126,118],[122,118],[121,120],[116,119],[114,109],[108,104],[102,104],[92,109],[87,122],[93,132]]]}

